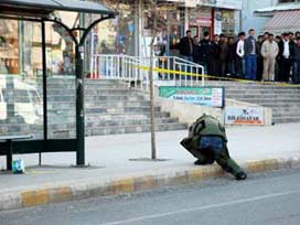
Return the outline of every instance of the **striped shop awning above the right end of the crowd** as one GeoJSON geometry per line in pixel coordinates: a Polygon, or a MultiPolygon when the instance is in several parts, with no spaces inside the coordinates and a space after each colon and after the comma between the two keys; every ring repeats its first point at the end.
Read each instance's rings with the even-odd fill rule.
{"type": "Polygon", "coordinates": [[[275,34],[281,34],[283,32],[297,32],[300,31],[300,10],[280,11],[264,26],[264,32],[271,32],[275,34]]]}

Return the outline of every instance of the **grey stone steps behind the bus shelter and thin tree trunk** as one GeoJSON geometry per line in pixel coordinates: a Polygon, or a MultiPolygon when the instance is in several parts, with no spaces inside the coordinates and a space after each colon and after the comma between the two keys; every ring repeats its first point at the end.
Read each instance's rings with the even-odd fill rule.
{"type": "MultiPolygon", "coordinates": [[[[75,83],[67,79],[49,81],[49,124],[54,135],[64,130],[75,135],[75,83]]],[[[139,90],[118,81],[85,81],[85,133],[100,136],[150,131],[150,101],[139,90]]],[[[170,118],[156,107],[156,129],[180,130],[186,125],[170,118]]]]}

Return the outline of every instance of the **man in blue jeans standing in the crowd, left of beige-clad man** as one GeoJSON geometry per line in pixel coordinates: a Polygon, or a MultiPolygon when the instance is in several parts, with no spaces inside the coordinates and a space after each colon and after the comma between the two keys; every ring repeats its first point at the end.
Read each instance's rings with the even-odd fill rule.
{"type": "Polygon", "coordinates": [[[245,40],[245,77],[247,79],[256,79],[257,54],[256,40],[254,38],[255,30],[250,29],[249,36],[245,40]]]}

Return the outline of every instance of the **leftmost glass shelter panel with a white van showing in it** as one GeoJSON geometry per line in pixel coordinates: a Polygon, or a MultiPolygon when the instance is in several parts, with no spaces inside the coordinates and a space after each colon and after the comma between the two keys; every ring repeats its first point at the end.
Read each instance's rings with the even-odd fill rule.
{"type": "Polygon", "coordinates": [[[0,136],[43,138],[41,30],[38,22],[0,20],[0,136]]]}

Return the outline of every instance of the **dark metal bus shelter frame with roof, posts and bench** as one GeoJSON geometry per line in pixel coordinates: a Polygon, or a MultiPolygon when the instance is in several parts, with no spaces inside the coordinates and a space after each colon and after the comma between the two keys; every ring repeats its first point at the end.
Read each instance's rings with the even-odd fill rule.
{"type": "MultiPolygon", "coordinates": [[[[99,22],[116,17],[116,12],[103,4],[78,0],[1,0],[0,19],[34,21],[41,24],[42,36],[42,87],[43,87],[43,138],[40,140],[12,141],[12,153],[76,152],[76,164],[85,165],[85,115],[84,115],[84,44],[92,29],[99,22]],[[69,28],[56,11],[93,13],[97,19],[89,24],[69,28]],[[47,138],[47,72],[46,72],[46,30],[52,22],[67,31],[75,45],[75,88],[76,88],[76,137],[73,139],[47,138]],[[79,35],[75,35],[75,33],[79,35]]],[[[1,148],[1,144],[0,144],[1,148]]],[[[0,154],[3,152],[0,151],[0,154]]],[[[10,162],[11,163],[11,162],[10,162]]]]}

